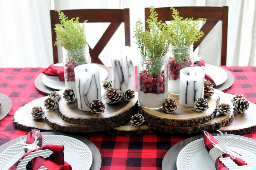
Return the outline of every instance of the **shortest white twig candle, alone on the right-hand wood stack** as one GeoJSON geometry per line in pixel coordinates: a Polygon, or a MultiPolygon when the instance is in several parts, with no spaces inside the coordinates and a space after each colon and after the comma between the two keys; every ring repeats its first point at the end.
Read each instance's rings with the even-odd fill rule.
{"type": "Polygon", "coordinates": [[[201,67],[185,67],[180,70],[179,103],[194,107],[197,98],[204,95],[204,71],[201,67]]]}

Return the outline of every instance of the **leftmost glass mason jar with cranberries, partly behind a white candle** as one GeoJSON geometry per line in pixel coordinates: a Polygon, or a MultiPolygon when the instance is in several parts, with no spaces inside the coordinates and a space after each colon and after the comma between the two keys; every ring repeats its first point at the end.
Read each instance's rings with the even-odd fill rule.
{"type": "Polygon", "coordinates": [[[73,88],[76,91],[75,72],[74,68],[81,64],[91,63],[89,54],[89,46],[81,50],[67,50],[62,48],[64,79],[66,88],[73,88]]]}

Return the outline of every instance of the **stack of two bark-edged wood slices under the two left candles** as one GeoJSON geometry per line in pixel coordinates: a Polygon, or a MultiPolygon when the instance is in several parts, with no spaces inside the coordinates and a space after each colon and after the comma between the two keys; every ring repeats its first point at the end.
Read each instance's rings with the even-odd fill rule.
{"type": "MultiPolygon", "coordinates": [[[[60,94],[63,91],[59,91],[60,94]]],[[[121,126],[131,119],[136,113],[138,94],[132,101],[121,99],[118,103],[106,103],[105,93],[102,94],[102,102],[105,104],[105,111],[101,116],[94,116],[91,112],[78,109],[78,102],[75,100],[68,103],[63,96],[59,100],[59,116],[54,112],[46,112],[46,123],[57,130],[68,132],[95,132],[110,130],[121,126]],[[60,119],[61,118],[61,119],[60,119]]]]}

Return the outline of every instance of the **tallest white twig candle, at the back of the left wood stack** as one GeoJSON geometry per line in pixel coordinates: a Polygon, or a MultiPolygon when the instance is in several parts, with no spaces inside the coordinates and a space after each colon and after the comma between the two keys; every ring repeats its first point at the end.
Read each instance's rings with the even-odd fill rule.
{"type": "Polygon", "coordinates": [[[135,91],[135,73],[132,48],[125,46],[120,55],[112,58],[112,87],[124,92],[127,88],[135,91]]]}

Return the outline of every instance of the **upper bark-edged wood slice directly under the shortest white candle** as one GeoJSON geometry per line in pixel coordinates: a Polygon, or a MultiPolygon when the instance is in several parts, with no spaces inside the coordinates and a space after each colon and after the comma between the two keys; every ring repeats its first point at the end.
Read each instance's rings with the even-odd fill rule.
{"type": "Polygon", "coordinates": [[[209,108],[202,113],[195,111],[195,108],[184,107],[179,104],[178,95],[170,94],[169,98],[176,101],[178,108],[172,114],[167,114],[162,108],[148,109],[140,106],[140,112],[145,116],[148,123],[157,123],[166,126],[191,126],[208,122],[216,116],[216,107],[219,101],[219,95],[215,92],[211,98],[207,99],[209,108]]]}

